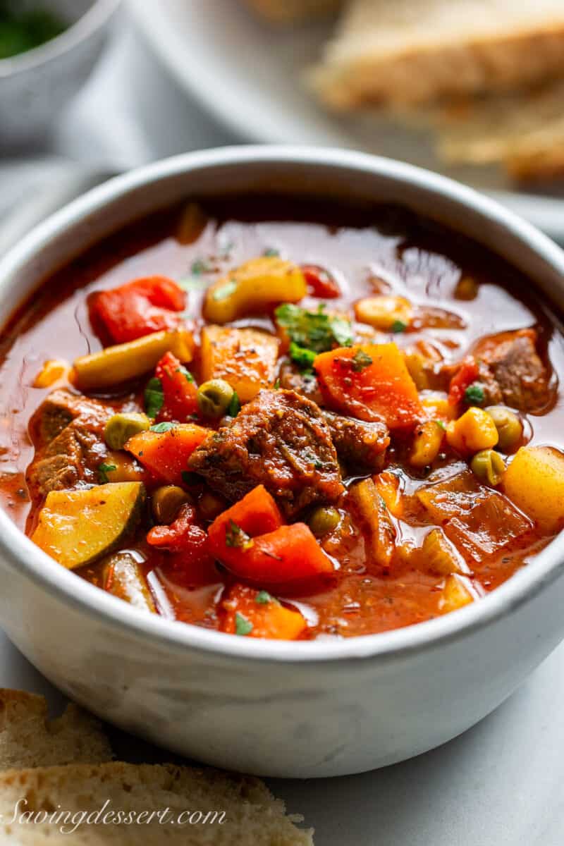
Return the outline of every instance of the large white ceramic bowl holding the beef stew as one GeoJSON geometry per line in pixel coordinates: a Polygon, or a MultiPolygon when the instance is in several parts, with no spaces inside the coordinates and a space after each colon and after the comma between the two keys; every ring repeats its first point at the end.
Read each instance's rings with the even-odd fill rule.
{"type": "MultiPolygon", "coordinates": [[[[241,147],[129,173],[51,217],[0,263],[0,321],[47,273],[145,212],[249,190],[406,204],[496,250],[564,306],[561,250],[473,190],[359,153],[241,147]]],[[[560,536],[490,596],[440,619],[342,641],[252,640],[147,617],[0,514],[0,622],[47,678],[156,744],[271,776],[384,766],[478,722],[564,635],[563,575],[560,536]]]]}

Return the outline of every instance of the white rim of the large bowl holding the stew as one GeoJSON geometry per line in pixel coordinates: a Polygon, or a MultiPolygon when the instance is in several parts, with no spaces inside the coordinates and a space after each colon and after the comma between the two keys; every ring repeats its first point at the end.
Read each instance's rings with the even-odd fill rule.
{"type": "MultiPolygon", "coordinates": [[[[214,169],[223,165],[271,163],[295,164],[314,168],[316,165],[371,173],[410,184],[424,193],[441,194],[459,206],[477,211],[485,222],[496,224],[517,237],[524,249],[533,250],[552,269],[564,277],[564,252],[528,222],[496,201],[474,189],[436,173],[392,159],[367,153],[308,146],[236,146],[191,152],[165,159],[144,168],[111,179],[90,190],[68,206],[47,218],[25,236],[0,261],[0,284],[3,278],[18,271],[32,255],[53,237],[108,202],[128,195],[144,185],[158,183],[175,175],[214,169]]],[[[89,582],[42,552],[0,509],[0,553],[3,560],[19,570],[42,590],[68,602],[80,613],[88,613],[100,622],[112,624],[124,634],[143,640],[158,641],[172,651],[190,648],[216,656],[250,659],[255,662],[319,663],[351,662],[362,659],[392,661],[435,649],[470,634],[474,629],[493,624],[517,607],[530,602],[539,592],[564,574],[564,531],[539,553],[534,563],[520,569],[490,594],[462,609],[423,623],[378,634],[364,634],[342,640],[281,641],[236,637],[233,634],[202,629],[195,625],[147,615],[129,606],[118,597],[89,582]]]]}

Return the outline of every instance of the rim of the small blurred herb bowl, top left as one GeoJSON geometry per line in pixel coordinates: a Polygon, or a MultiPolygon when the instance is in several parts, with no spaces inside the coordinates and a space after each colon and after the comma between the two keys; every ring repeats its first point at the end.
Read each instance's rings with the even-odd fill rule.
{"type": "Polygon", "coordinates": [[[37,68],[77,47],[96,30],[101,30],[107,25],[121,2],[122,0],[94,0],[85,14],[75,20],[74,24],[68,26],[59,36],[16,56],[0,59],[0,80],[37,68]]]}

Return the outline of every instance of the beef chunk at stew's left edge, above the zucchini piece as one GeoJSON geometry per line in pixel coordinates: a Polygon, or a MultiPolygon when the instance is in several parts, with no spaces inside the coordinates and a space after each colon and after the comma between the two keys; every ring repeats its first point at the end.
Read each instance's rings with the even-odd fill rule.
{"type": "Polygon", "coordinates": [[[96,399],[54,391],[30,421],[36,455],[27,471],[32,497],[98,481],[106,455],[103,431],[113,409],[96,399]]]}

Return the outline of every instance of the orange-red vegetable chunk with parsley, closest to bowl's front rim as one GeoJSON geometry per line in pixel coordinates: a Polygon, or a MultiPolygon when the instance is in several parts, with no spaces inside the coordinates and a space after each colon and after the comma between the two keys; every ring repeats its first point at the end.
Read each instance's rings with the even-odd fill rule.
{"type": "Polygon", "coordinates": [[[296,640],[307,628],[301,613],[281,605],[266,591],[233,585],[222,602],[225,616],[221,630],[228,634],[296,640]]]}

